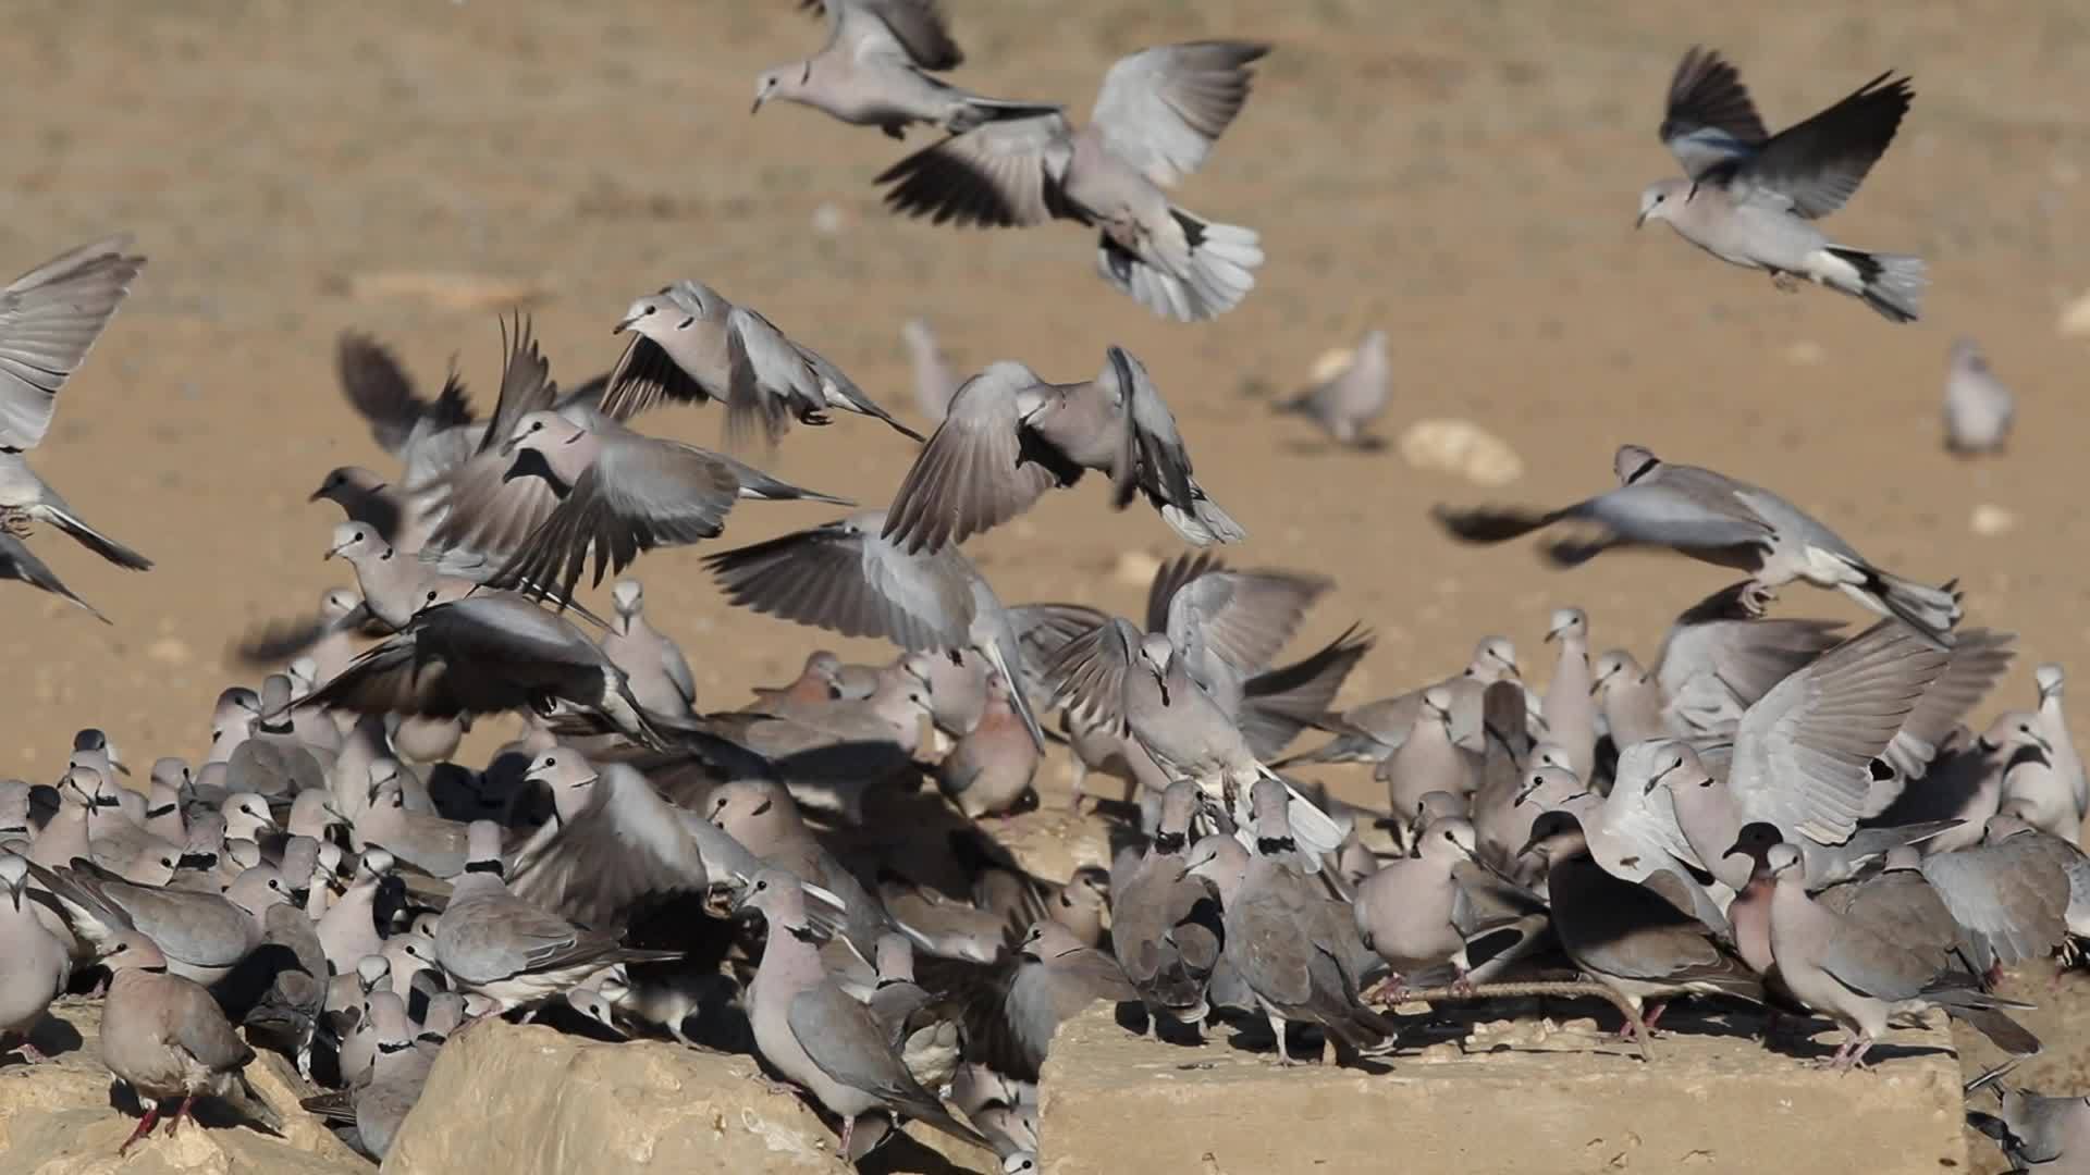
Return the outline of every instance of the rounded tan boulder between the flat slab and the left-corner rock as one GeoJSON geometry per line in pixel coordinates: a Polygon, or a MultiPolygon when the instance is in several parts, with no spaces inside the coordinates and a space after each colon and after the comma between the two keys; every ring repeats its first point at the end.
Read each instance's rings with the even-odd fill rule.
{"type": "MultiPolygon", "coordinates": [[[[771,1093],[750,1056],[598,1043],[489,1018],[443,1045],[385,1173],[840,1171],[836,1142],[800,1098],[771,1093]]],[[[986,1152],[953,1156],[901,1137],[878,1162],[909,1173],[1001,1169],[986,1152]]]]}

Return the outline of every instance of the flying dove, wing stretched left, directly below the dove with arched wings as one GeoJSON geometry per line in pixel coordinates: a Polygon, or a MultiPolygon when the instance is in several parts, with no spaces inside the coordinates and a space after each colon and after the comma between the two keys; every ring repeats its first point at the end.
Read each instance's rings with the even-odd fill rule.
{"type": "MultiPolygon", "coordinates": [[[[1020,682],[1022,644],[986,577],[955,548],[907,554],[882,537],[884,510],[859,510],[775,539],[704,556],[744,608],[907,650],[972,650],[1020,682]]],[[[1030,742],[1045,746],[1022,688],[1009,690],[1030,742]]]]}

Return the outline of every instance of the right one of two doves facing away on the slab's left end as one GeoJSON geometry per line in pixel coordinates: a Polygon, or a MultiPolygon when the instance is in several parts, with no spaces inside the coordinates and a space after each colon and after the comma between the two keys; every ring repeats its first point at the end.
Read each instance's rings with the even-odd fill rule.
{"type": "Polygon", "coordinates": [[[1256,780],[1252,805],[1254,855],[1225,905],[1225,955],[1269,1016],[1277,1062],[1292,1064],[1290,1020],[1321,1024],[1358,1056],[1390,1050],[1398,1024],[1358,999],[1365,981],[1358,964],[1369,951],[1350,912],[1321,897],[1294,863],[1300,847],[1285,817],[1285,786],[1256,780]]]}

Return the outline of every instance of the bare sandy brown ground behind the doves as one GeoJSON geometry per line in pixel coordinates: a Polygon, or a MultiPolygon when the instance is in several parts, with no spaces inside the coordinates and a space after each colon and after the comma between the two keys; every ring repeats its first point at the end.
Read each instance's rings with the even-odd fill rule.
{"type": "MultiPolygon", "coordinates": [[[[746,113],[761,69],[821,42],[786,0],[15,4],[0,268],[117,228],[150,255],[36,464],[159,567],[123,573],[40,535],[117,623],[8,590],[0,713],[15,763],[0,753],[0,771],[50,778],[88,723],[140,763],[196,755],[234,679],[226,644],[341,581],[320,562],[336,514],[305,496],[334,464],[385,462],[334,389],[339,330],[393,343],[428,387],[456,358],[489,408],[502,289],[533,295],[554,372],[577,383],[614,362],[627,301],[681,276],[759,305],[903,414],[907,316],[930,318],[961,370],[1007,355],[1076,378],[1106,343],[1131,347],[1200,479],[1252,533],[1229,554],[1340,581],[1302,644],[1352,619],[1377,631],[1356,700],[1455,669],[1486,631],[1513,636],[1542,677],[1557,604],[1590,610],[1597,648],[1649,654],[1722,573],[1636,558],[1551,573],[1528,550],[1455,548],[1425,519],[1432,502],[1578,498],[1609,481],[1628,439],[1776,487],[1885,567],[1956,575],[1971,623],[2023,633],[2002,702],[2031,700],[2042,659],[2090,677],[2090,521],[2073,502],[2086,343],[2057,332],[2090,289],[2090,8],[1062,0],[1045,23],[1028,2],[947,6],[970,52],[957,82],[1078,113],[1133,48],[1275,42],[1246,113],[1183,188],[1185,205],[1262,232],[1254,295],[1216,324],[1170,324],[1104,286],[1072,226],[890,220],[869,178],[899,144],[782,102],[746,113]],[[1825,291],[1781,295],[1664,228],[1632,232],[1639,188],[1672,171],[1655,123],[1693,42],[1743,67],[1772,125],[1881,69],[1914,75],[1900,140],[1829,226],[1931,259],[1921,324],[1825,291]],[[416,293],[428,289],[439,297],[416,293]],[[1524,481],[1482,491],[1392,450],[1329,452],[1267,414],[1323,349],[1373,326],[1396,364],[1381,433],[1469,418],[1524,456],[1524,481]],[[1981,339],[2019,391],[2002,460],[1940,447],[1956,335],[1981,339]],[[1977,537],[1977,504],[2015,529],[1977,537]]],[[[644,427],[713,441],[719,424],[671,410],[644,427]]],[[[773,473],[882,502],[909,450],[849,418],[796,431],[773,473]]],[[[823,516],[748,504],[725,542],[823,516]]],[[[1141,585],[1116,573],[1120,552],[1177,544],[1085,485],[968,550],[1012,602],[1131,610],[1141,585]]],[[[738,705],[832,644],[729,610],[696,552],[648,556],[640,573],[706,702],[738,705]]],[[[1808,590],[1785,608],[1856,615],[1808,590]]]]}

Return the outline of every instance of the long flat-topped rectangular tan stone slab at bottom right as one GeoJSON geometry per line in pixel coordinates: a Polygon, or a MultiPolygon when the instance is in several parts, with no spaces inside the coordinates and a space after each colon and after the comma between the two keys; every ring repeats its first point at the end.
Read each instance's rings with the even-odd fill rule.
{"type": "MultiPolygon", "coordinates": [[[[1737,1024],[1762,1020],[1741,1014],[1737,1024]]],[[[1091,1008],[1062,1024],[1045,1060],[1041,1171],[1967,1167],[1960,1075],[1944,1031],[1896,1033],[1871,1073],[1837,1075],[1745,1033],[1678,1029],[1655,1041],[1647,1064],[1628,1045],[1603,1043],[1590,1020],[1526,1018],[1513,1029],[1490,1027],[1471,1052],[1404,1052],[1381,1073],[1277,1068],[1269,1054],[1225,1039],[1150,1041],[1108,1006],[1091,1008]]]]}

